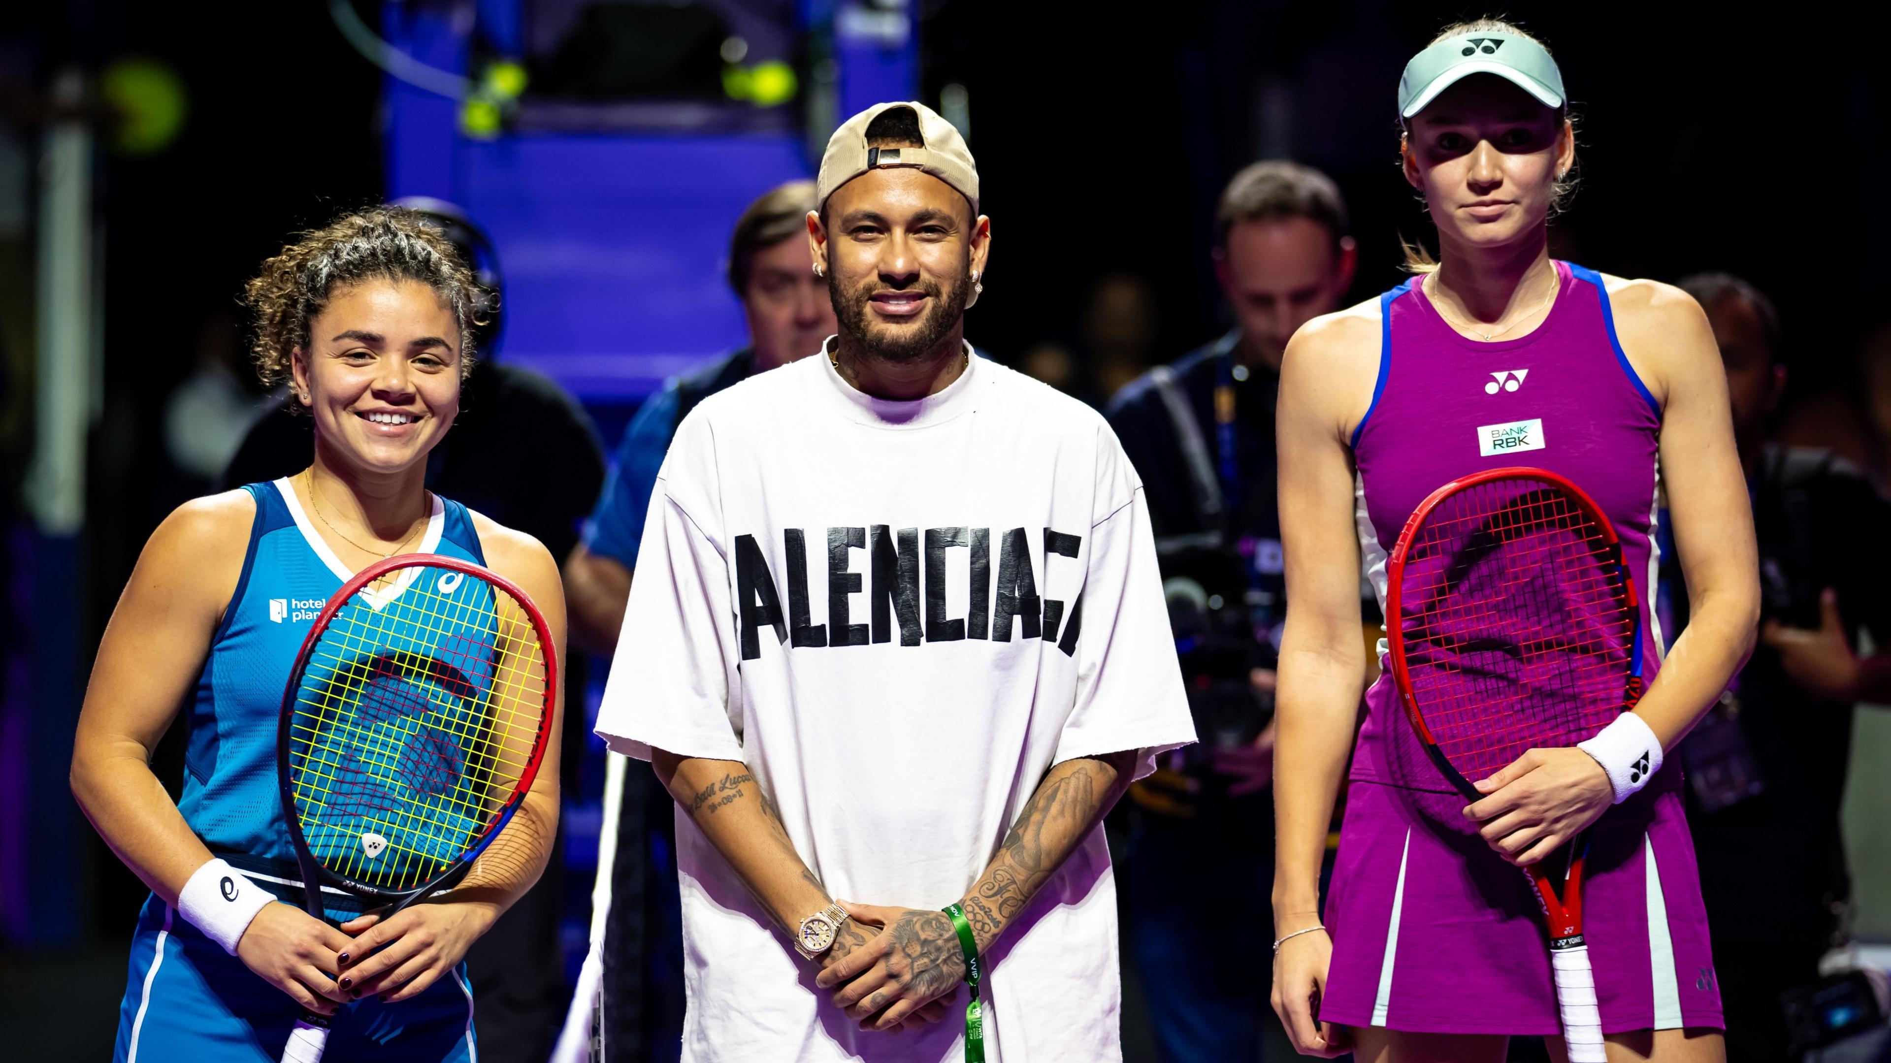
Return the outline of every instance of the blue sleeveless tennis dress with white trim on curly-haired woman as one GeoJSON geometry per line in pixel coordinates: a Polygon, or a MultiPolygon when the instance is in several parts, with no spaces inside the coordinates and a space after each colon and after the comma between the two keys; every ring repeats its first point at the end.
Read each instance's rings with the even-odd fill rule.
{"type": "MultiPolygon", "coordinates": [[[[314,514],[297,501],[289,480],[242,490],[255,499],[255,520],[236,594],[185,709],[189,738],[178,810],[212,853],[284,904],[303,908],[301,870],[276,783],[276,721],[310,624],[354,573],[316,533],[314,514]]],[[[439,496],[416,552],[486,564],[467,507],[439,496]]],[[[323,906],[337,921],[365,908],[333,889],[323,906]]],[[[119,1004],[115,1061],[274,1063],[299,1014],[301,1006],[282,989],[257,978],[174,908],[157,897],[144,902],[119,1004]]],[[[327,1057],[475,1063],[465,965],[412,1001],[382,1004],[367,997],[342,1006],[327,1057]]]]}

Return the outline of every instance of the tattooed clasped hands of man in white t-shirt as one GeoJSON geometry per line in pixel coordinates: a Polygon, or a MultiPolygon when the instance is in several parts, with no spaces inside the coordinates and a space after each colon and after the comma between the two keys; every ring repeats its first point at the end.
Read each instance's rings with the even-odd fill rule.
{"type": "Polygon", "coordinates": [[[849,919],[821,959],[815,985],[860,1029],[900,1033],[940,1021],[964,982],[951,915],[836,900],[849,919]]]}

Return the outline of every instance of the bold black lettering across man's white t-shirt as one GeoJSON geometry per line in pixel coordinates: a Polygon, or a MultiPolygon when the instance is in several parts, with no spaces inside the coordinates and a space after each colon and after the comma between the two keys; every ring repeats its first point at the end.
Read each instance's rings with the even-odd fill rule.
{"type": "MultiPolygon", "coordinates": [[[[1076,558],[1082,545],[1082,535],[1044,530],[1046,558],[1051,554],[1076,558]]],[[[1078,592],[1070,603],[1068,619],[1063,601],[1038,598],[1031,539],[1023,528],[998,535],[997,594],[991,579],[991,528],[927,528],[923,550],[919,528],[898,532],[887,524],[828,528],[824,624],[811,622],[809,615],[806,532],[785,528],[781,547],[789,569],[787,615],[781,611],[775,573],[768,567],[762,547],[755,535],[736,535],[736,598],[741,609],[743,660],[762,656],[764,626],[773,628],[777,643],[790,643],[792,649],[889,643],[894,626],[904,647],[959,639],[1002,643],[1012,639],[1015,626],[1027,639],[1053,641],[1065,656],[1076,654],[1076,639],[1084,628],[1084,594],[1078,592]],[[872,607],[866,624],[855,622],[849,609],[849,596],[859,594],[862,583],[862,573],[851,566],[849,550],[859,549],[868,550],[866,590],[872,607]],[[946,615],[946,550],[953,549],[970,550],[970,609],[964,617],[946,615]],[[925,598],[919,594],[921,567],[925,567],[925,598]]]]}

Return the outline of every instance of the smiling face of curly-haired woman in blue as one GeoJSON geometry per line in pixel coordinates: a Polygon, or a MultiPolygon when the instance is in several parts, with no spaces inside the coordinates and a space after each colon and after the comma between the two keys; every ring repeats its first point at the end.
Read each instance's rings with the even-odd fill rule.
{"type": "Polygon", "coordinates": [[[295,350],[323,454],[359,473],[424,462],[460,412],[460,329],[425,284],[369,280],[335,291],[295,350]]]}

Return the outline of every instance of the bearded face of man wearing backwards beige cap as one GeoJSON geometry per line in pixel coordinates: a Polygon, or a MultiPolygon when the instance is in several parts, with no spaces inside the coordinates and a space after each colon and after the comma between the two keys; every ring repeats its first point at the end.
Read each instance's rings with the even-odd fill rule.
{"type": "Polygon", "coordinates": [[[809,214],[841,333],[876,357],[913,361],[953,337],[985,269],[991,221],[913,166],[868,170],[809,214]]]}

